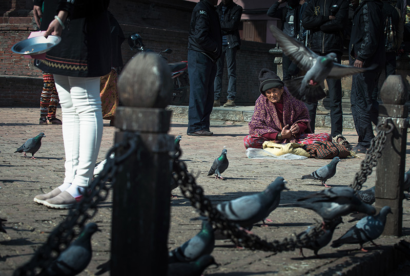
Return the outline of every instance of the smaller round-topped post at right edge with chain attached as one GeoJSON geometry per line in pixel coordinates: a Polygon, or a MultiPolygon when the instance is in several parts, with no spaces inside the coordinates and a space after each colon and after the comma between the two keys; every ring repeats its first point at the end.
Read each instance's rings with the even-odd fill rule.
{"type": "Polygon", "coordinates": [[[400,75],[390,75],[384,81],[380,97],[383,104],[379,106],[379,124],[391,122],[393,131],[386,134],[382,156],[377,162],[376,170],[376,209],[388,205],[393,215],[387,216],[383,235],[401,236],[403,216],[403,189],[406,140],[407,140],[407,107],[403,79],[400,75]]]}

